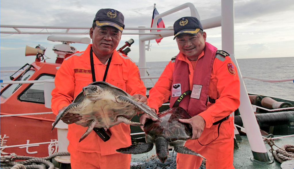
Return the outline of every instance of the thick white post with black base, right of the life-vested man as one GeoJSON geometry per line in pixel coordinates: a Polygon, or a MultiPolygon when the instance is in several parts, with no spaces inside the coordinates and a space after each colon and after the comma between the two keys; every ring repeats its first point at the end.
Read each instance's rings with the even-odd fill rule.
{"type": "Polygon", "coordinates": [[[253,153],[253,161],[270,163],[265,144],[263,142],[258,123],[256,121],[251,103],[248,97],[245,84],[240,73],[237,60],[234,55],[234,1],[221,1],[222,14],[222,49],[230,54],[230,58],[235,63],[240,78],[240,106],[239,111],[246,130],[248,141],[253,153]]]}

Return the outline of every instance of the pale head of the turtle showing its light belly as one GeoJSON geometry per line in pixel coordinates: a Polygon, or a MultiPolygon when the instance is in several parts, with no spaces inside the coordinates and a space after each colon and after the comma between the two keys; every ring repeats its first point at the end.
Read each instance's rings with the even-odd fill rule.
{"type": "Polygon", "coordinates": [[[97,85],[83,87],[84,96],[89,100],[98,100],[103,97],[103,89],[97,85]]]}

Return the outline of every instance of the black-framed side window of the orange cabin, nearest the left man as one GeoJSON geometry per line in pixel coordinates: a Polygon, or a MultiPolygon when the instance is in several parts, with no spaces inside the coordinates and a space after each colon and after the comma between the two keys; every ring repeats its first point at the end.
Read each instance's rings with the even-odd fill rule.
{"type": "MultiPolygon", "coordinates": [[[[36,80],[54,79],[54,75],[43,74],[36,80]]],[[[20,101],[45,104],[44,83],[34,83],[24,90],[19,96],[20,101]]]]}

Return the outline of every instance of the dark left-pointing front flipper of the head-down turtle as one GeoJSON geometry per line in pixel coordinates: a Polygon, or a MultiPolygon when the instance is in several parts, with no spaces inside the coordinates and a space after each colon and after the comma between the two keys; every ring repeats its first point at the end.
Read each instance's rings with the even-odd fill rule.
{"type": "Polygon", "coordinates": [[[152,148],[153,143],[138,143],[132,144],[129,147],[117,149],[116,151],[124,154],[142,154],[151,151],[152,148]]]}

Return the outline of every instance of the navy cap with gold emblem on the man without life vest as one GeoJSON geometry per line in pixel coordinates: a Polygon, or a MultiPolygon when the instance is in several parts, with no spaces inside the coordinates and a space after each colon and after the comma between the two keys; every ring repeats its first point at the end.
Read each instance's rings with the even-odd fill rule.
{"type": "Polygon", "coordinates": [[[94,18],[97,27],[113,26],[121,32],[125,28],[123,21],[123,14],[115,9],[100,9],[94,18]]]}

